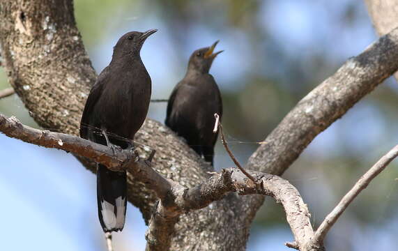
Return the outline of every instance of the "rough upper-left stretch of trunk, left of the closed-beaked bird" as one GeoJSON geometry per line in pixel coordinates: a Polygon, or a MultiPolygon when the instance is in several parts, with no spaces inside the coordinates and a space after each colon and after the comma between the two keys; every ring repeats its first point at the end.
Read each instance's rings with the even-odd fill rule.
{"type": "Polygon", "coordinates": [[[1,1],[0,8],[1,56],[10,84],[40,126],[76,135],[95,72],[72,1],[1,1]]]}

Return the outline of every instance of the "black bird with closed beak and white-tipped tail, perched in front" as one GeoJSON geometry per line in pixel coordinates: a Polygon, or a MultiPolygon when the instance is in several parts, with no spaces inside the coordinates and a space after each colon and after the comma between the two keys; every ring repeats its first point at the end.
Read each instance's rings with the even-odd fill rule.
{"type": "MultiPolygon", "coordinates": [[[[114,47],[112,61],[95,82],[80,122],[80,137],[116,149],[132,147],[151,100],[151,77],[139,52],[151,29],[125,33],[114,47]],[[116,145],[116,146],[115,146],[116,145]]],[[[121,231],[125,222],[126,174],[97,165],[98,217],[105,232],[121,231]]]]}

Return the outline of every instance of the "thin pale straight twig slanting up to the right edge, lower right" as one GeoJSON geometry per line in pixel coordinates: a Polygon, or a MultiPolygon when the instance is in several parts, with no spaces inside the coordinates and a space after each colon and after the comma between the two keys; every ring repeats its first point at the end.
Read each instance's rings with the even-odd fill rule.
{"type": "Polygon", "coordinates": [[[314,234],[314,243],[321,243],[328,234],[329,229],[335,224],[340,215],[346,210],[346,208],[351,204],[351,201],[359,195],[359,193],[367,188],[367,185],[380,174],[385,167],[390,164],[398,155],[398,145],[391,149],[387,154],[385,154],[376,164],[373,165],[369,171],[367,171],[360,179],[355,183],[353,188],[343,197],[343,199],[337,204],[337,206],[326,216],[325,220],[321,223],[319,228],[314,234]]]}

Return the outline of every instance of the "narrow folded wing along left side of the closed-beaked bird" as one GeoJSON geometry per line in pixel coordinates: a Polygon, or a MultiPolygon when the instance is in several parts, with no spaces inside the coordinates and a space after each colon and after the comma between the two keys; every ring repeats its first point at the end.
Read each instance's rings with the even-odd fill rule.
{"type": "Polygon", "coordinates": [[[80,137],[83,139],[87,139],[89,135],[89,123],[90,123],[90,115],[93,111],[93,107],[95,106],[98,98],[100,98],[102,89],[105,83],[105,75],[107,75],[107,68],[102,70],[101,74],[98,76],[97,81],[91,88],[89,98],[86,100],[86,105],[84,105],[84,111],[82,114],[82,120],[80,121],[80,137]]]}

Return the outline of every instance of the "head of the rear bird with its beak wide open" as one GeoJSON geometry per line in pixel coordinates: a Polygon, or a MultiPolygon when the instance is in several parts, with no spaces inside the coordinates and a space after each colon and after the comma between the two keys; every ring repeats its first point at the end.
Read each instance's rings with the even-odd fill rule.
{"type": "Polygon", "coordinates": [[[204,47],[199,50],[196,50],[192,53],[190,56],[190,62],[188,63],[188,70],[197,70],[200,73],[208,73],[211,67],[211,63],[213,63],[213,60],[215,57],[220,54],[221,52],[215,52],[214,48],[215,45],[217,45],[218,40],[211,45],[211,47],[204,47]]]}

